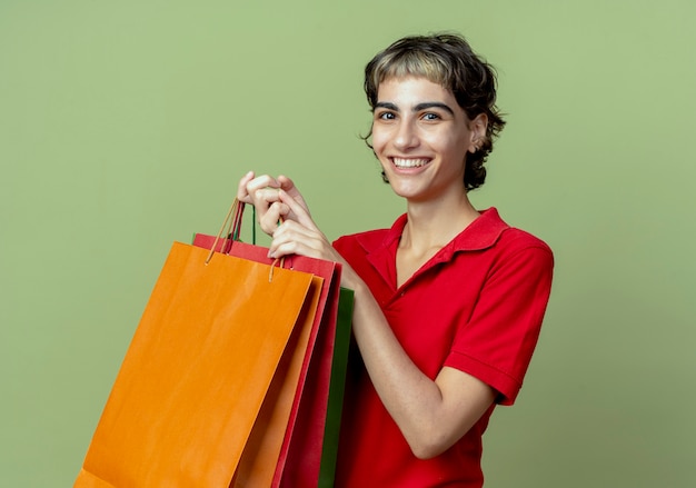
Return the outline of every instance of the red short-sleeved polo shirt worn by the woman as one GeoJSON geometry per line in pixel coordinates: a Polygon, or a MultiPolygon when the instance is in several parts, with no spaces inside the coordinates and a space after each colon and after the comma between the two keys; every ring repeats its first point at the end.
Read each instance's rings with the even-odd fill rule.
{"type": "MultiPolygon", "coordinates": [[[[338,239],[336,249],[370,288],[401,346],[428,377],[449,366],[488,384],[511,405],[537,342],[554,258],[546,243],[505,223],[496,209],[396,288],[406,225],[338,239]]],[[[416,458],[359,357],[351,359],[336,487],[480,487],[481,436],[493,412],[450,449],[416,458]]]]}

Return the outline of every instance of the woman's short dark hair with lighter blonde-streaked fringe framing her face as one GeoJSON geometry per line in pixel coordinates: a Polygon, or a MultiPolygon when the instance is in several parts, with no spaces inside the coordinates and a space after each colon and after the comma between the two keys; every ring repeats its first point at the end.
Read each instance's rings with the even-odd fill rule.
{"type": "MultiPolygon", "coordinates": [[[[422,77],[451,91],[469,120],[480,113],[488,117],[486,136],[476,152],[467,153],[464,172],[464,186],[467,190],[484,185],[484,162],[493,151],[494,139],[505,126],[496,107],[497,80],[493,66],[477,56],[469,43],[457,34],[439,33],[399,39],[377,53],[365,67],[365,93],[370,108],[374,110],[377,104],[377,90],[382,81],[405,77],[422,77]]],[[[371,133],[370,128],[366,141],[371,133]]],[[[382,178],[387,181],[384,171],[382,178]]]]}

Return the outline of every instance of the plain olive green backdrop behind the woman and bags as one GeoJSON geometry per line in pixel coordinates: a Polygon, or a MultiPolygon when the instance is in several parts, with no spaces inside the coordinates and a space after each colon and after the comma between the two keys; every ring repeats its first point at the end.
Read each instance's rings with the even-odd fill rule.
{"type": "Polygon", "coordinates": [[[0,0],[0,486],[71,486],[171,241],[247,170],[330,238],[391,223],[361,72],[439,30],[508,113],[474,202],[557,259],[487,487],[696,486],[694,6],[0,0]]]}

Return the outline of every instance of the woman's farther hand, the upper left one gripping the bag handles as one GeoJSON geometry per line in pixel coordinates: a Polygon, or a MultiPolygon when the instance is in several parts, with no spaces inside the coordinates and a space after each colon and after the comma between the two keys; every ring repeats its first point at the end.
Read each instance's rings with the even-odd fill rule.
{"type": "Polygon", "coordinates": [[[285,176],[274,178],[268,175],[256,177],[249,171],[239,180],[237,198],[256,208],[257,219],[261,230],[272,236],[280,220],[296,220],[297,215],[280,200],[278,192],[282,190],[309,216],[309,209],[292,180],[285,176]]]}

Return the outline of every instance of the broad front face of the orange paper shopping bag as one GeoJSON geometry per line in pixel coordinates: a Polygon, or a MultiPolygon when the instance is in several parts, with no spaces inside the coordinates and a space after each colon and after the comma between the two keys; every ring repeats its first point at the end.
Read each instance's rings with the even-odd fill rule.
{"type": "Polygon", "coordinates": [[[315,321],[321,278],[207,256],[173,243],[76,487],[230,484],[296,322],[315,321]]]}

